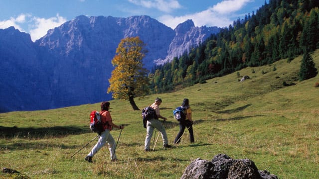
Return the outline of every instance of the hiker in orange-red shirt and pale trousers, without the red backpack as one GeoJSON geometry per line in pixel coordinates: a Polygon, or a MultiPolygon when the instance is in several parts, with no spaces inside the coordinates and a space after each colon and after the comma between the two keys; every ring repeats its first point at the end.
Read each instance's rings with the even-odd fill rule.
{"type": "Polygon", "coordinates": [[[111,156],[111,162],[117,161],[117,157],[115,155],[115,140],[112,137],[110,131],[113,127],[124,129],[124,126],[115,125],[112,122],[112,117],[110,114],[110,102],[104,101],[101,103],[101,121],[104,123],[104,131],[101,133],[98,142],[95,144],[91,152],[85,157],[85,160],[88,162],[92,162],[92,157],[104,146],[105,143],[109,145],[109,151],[111,156]]]}

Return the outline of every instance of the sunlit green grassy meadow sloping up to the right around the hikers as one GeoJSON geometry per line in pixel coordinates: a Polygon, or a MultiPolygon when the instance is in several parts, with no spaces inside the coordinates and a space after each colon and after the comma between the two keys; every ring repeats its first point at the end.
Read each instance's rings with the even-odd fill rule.
{"type": "MultiPolygon", "coordinates": [[[[319,51],[313,55],[319,69],[319,51]]],[[[234,159],[248,158],[259,170],[280,179],[319,178],[319,76],[298,82],[302,56],[263,67],[245,68],[176,92],[136,99],[142,109],[162,98],[161,115],[169,143],[179,127],[172,110],[187,97],[193,112],[195,143],[186,132],[173,149],[162,149],[161,138],[154,152],[144,152],[146,129],[141,111],[128,101],[112,100],[115,124],[124,124],[117,148],[119,162],[110,163],[107,147],[93,158],[84,157],[96,140],[89,130],[89,113],[99,104],[86,104],[43,111],[0,114],[0,167],[11,168],[32,179],[178,179],[196,158],[211,160],[224,153],[234,159]],[[276,66],[276,71],[274,71],[276,66]],[[291,84],[285,87],[283,83],[291,84]]],[[[117,140],[119,130],[111,134],[117,140]]],[[[158,134],[158,132],[157,132],[158,134]]],[[[153,138],[152,138],[153,145],[153,138]]],[[[8,175],[0,173],[0,179],[8,175]]]]}

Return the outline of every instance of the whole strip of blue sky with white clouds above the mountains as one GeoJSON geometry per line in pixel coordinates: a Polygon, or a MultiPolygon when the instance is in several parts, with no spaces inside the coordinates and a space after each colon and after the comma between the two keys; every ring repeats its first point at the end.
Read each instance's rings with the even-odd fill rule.
{"type": "Polygon", "coordinates": [[[0,28],[14,26],[35,41],[47,30],[78,15],[149,15],[172,29],[187,19],[192,19],[195,26],[228,27],[264,3],[265,0],[0,0],[0,28]]]}

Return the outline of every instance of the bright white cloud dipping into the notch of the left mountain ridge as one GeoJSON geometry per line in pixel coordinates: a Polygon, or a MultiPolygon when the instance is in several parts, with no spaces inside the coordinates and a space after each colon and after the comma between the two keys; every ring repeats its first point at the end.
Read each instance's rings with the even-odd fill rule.
{"type": "Polygon", "coordinates": [[[30,36],[32,41],[35,41],[41,37],[43,37],[49,29],[54,27],[60,26],[66,19],[59,14],[56,14],[56,17],[50,18],[40,18],[40,17],[33,17],[32,20],[34,21],[34,25],[31,26],[30,36]]]}

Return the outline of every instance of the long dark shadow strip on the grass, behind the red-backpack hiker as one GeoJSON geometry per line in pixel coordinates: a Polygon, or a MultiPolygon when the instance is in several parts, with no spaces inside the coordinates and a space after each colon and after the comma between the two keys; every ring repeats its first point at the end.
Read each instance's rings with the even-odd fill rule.
{"type": "Polygon", "coordinates": [[[55,127],[3,127],[0,126],[0,138],[27,138],[42,139],[64,137],[67,135],[77,135],[91,133],[89,127],[55,126],[55,127]]]}

